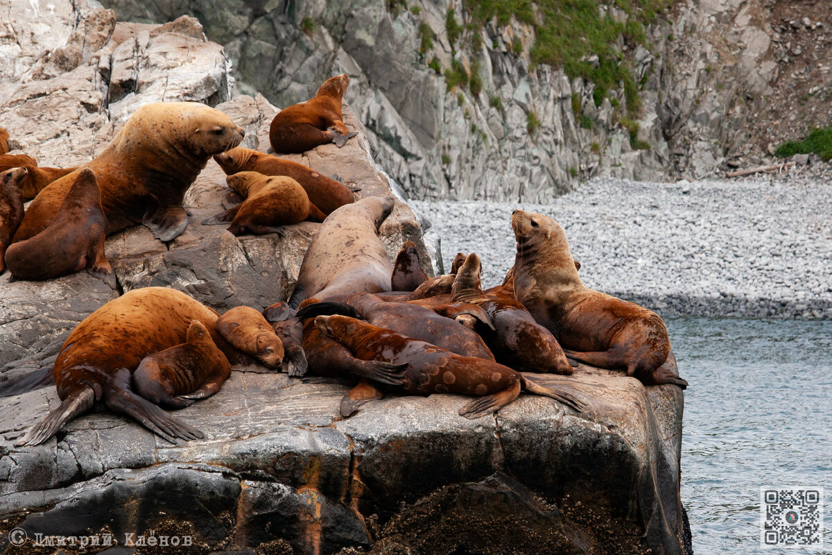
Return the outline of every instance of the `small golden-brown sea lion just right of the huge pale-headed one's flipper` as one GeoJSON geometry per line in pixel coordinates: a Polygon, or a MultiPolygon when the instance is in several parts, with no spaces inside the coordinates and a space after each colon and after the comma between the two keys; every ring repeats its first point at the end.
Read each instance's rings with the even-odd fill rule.
{"type": "Polygon", "coordinates": [[[312,203],[306,191],[291,177],[264,176],[256,171],[240,171],[225,178],[232,191],[245,200],[203,224],[231,222],[233,235],[280,233],[280,225],[304,220],[324,221],[326,216],[312,203]]]}

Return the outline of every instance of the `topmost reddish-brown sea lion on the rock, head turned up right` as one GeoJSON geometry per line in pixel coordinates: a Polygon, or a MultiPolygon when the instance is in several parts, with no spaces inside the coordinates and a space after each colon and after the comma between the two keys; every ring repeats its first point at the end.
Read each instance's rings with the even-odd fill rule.
{"type": "Polygon", "coordinates": [[[330,77],[313,98],[279,111],[271,121],[269,141],[278,154],[300,154],[334,142],[339,148],[358,132],[349,132],[341,115],[341,102],[349,85],[346,73],[330,77]]]}

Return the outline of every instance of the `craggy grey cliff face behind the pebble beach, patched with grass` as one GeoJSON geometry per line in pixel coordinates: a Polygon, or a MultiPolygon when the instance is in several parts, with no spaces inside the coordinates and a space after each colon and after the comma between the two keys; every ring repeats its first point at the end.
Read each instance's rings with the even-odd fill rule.
{"type": "MultiPolygon", "coordinates": [[[[766,95],[788,97],[790,80],[779,79],[790,62],[785,48],[800,50],[781,36],[780,22],[772,27],[775,7],[796,10],[780,6],[788,2],[678,0],[645,27],[647,47],[619,40],[641,97],[637,116],[623,121],[616,108],[624,105],[622,91],[596,105],[591,82],[532,63],[532,27],[511,19],[466,29],[470,17],[461,0],[109,3],[136,20],[164,22],[182,12],[199,17],[234,60],[240,90],[253,88],[277,106],[310,97],[326,77],[348,72],[347,99],[368,127],[379,162],[418,199],[545,202],[599,174],[700,178],[759,161],[786,131],[755,121],[766,95]],[[463,36],[478,35],[469,41],[476,49],[448,37],[449,10],[463,36]],[[455,60],[476,74],[476,94],[476,87],[448,87],[427,65],[434,57],[440,71],[455,60]]],[[[622,22],[628,17],[602,8],[622,22]]],[[[801,32],[818,29],[815,42],[823,44],[824,27],[816,20],[829,27],[830,13],[817,11],[809,27],[799,15],[793,21],[801,32]]],[[[812,63],[801,67],[828,81],[812,63]]],[[[808,121],[818,117],[815,112],[808,121]]]]}

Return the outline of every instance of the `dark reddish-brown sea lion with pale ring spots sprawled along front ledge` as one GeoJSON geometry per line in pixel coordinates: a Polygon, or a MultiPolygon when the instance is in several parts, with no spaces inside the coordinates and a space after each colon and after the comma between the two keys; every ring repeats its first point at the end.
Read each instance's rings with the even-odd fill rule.
{"type": "Polygon", "coordinates": [[[400,387],[409,394],[457,393],[480,397],[459,410],[460,416],[468,419],[478,419],[503,408],[517,399],[521,389],[557,399],[578,412],[583,406],[571,394],[537,385],[493,360],[455,354],[363,320],[342,315],[318,316],[314,325],[359,359],[406,364],[400,387]]]}

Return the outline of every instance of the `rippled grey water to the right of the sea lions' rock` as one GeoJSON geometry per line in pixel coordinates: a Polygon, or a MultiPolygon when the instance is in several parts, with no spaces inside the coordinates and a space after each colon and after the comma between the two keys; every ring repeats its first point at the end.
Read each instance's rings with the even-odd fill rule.
{"type": "Polygon", "coordinates": [[[832,322],[666,320],[696,555],[832,553],[832,322]],[[825,488],[822,550],[760,547],[760,486],[825,488]]]}

